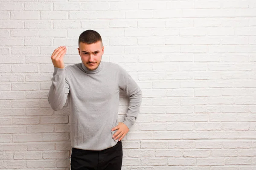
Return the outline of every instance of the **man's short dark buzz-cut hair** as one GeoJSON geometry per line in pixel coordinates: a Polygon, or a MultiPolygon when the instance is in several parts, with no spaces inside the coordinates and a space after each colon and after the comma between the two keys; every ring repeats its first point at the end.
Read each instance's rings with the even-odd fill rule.
{"type": "Polygon", "coordinates": [[[78,44],[80,44],[80,42],[84,42],[86,44],[93,44],[98,41],[102,42],[100,34],[97,31],[88,29],[80,34],[78,44]]]}

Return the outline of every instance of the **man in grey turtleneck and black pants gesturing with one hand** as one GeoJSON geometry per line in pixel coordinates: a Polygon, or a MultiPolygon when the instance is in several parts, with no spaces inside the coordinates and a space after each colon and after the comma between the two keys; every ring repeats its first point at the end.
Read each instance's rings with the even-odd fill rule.
{"type": "Polygon", "coordinates": [[[54,111],[70,107],[71,170],[121,170],[122,138],[135,123],[142,92],[119,65],[103,62],[100,34],[87,30],[79,36],[82,62],[64,67],[65,46],[52,53],[54,65],[48,101],[54,111]],[[130,99],[122,122],[117,122],[119,90],[130,99]]]}

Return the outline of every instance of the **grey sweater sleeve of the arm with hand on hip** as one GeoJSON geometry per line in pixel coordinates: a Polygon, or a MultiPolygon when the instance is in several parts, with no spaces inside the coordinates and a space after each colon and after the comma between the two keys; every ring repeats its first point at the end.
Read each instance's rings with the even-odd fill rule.
{"type": "Polygon", "coordinates": [[[142,101],[142,91],[130,74],[119,66],[119,88],[126,92],[129,96],[128,110],[125,115],[124,123],[129,129],[134,125],[138,114],[140,113],[140,105],[142,101]]]}

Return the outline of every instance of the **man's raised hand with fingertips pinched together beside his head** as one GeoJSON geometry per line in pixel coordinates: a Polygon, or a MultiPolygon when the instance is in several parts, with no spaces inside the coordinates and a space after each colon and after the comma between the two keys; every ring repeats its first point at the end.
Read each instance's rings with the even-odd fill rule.
{"type": "Polygon", "coordinates": [[[66,46],[60,46],[53,51],[51,59],[54,67],[65,68],[63,58],[66,52],[67,52],[66,46]]]}

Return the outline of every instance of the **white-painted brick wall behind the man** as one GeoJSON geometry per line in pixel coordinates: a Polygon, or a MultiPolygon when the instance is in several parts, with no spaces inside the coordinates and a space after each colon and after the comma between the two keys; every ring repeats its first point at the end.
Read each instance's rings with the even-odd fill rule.
{"type": "Polygon", "coordinates": [[[87,29],[143,91],[122,170],[256,170],[256,0],[0,0],[0,169],[69,170],[50,55],[87,29]]]}

